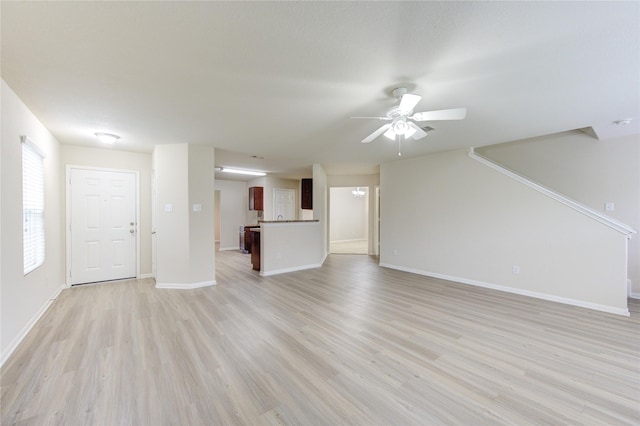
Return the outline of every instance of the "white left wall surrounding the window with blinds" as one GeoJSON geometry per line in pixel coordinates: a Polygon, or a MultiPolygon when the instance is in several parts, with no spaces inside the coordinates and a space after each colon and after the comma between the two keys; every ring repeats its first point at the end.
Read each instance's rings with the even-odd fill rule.
{"type": "Polygon", "coordinates": [[[64,284],[64,205],[60,188],[61,160],[58,141],[40,123],[2,80],[0,88],[2,122],[2,182],[0,232],[0,362],[4,363],[64,284]],[[27,276],[22,254],[22,147],[20,135],[27,135],[46,158],[45,173],[45,260],[27,276]]]}

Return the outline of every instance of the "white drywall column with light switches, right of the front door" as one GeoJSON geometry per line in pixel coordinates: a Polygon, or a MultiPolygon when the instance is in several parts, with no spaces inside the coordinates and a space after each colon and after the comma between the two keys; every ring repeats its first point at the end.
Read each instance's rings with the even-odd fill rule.
{"type": "Polygon", "coordinates": [[[158,145],[156,287],[196,288],[215,282],[213,147],[158,145]]]}

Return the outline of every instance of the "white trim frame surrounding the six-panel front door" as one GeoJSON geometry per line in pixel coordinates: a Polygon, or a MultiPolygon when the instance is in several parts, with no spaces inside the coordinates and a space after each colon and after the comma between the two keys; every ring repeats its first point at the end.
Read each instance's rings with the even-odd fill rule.
{"type": "Polygon", "coordinates": [[[66,251],[66,271],[65,287],[71,287],[71,170],[91,170],[101,172],[133,173],[136,180],[136,278],[140,278],[140,172],[137,170],[109,169],[104,167],[66,165],[65,187],[66,187],[66,212],[65,212],[65,251],[66,251]]]}

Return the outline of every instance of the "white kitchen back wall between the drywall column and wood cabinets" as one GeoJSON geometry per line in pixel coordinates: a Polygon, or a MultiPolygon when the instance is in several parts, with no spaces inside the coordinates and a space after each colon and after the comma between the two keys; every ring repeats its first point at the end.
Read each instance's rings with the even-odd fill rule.
{"type": "Polygon", "coordinates": [[[216,190],[220,191],[220,250],[237,250],[240,248],[240,226],[256,223],[245,223],[249,194],[247,184],[217,179],[216,190]]]}

